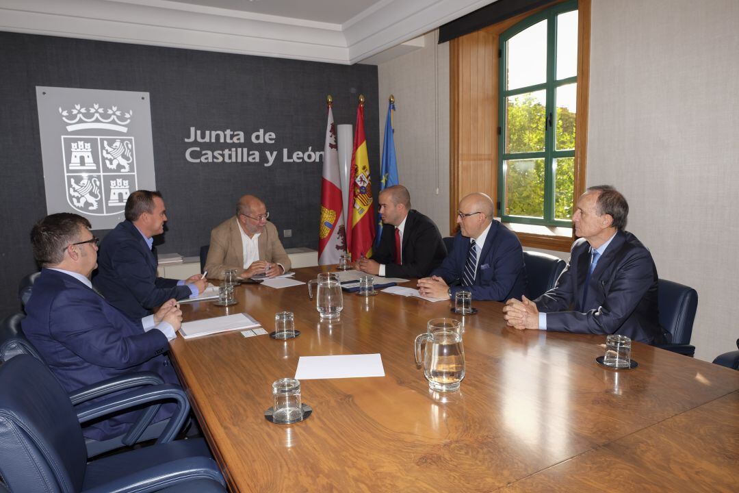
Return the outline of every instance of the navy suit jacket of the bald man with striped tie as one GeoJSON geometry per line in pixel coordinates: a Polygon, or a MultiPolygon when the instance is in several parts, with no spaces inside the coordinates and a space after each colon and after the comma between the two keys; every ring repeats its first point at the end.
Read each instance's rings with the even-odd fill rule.
{"type": "Polygon", "coordinates": [[[474,286],[458,286],[467,262],[470,242],[461,232],[454,236],[452,253],[444,259],[432,276],[440,276],[452,287],[452,298],[459,290],[472,293],[472,299],[492,299],[503,302],[521,298],[526,290],[526,271],[523,265],[523,248],[516,234],[500,222],[493,220],[488,236],[477,261],[474,286]]]}

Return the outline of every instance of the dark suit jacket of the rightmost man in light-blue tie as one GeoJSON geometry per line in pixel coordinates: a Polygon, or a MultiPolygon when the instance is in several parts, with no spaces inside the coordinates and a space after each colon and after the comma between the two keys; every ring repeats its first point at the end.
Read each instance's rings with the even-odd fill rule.
{"type": "Polygon", "coordinates": [[[581,238],[554,288],[534,300],[547,313],[547,330],[621,334],[647,344],[666,341],[659,325],[657,268],[633,234],[616,233],[585,286],[589,268],[590,244],[581,238]],[[582,306],[584,289],[588,297],[582,306]]]}

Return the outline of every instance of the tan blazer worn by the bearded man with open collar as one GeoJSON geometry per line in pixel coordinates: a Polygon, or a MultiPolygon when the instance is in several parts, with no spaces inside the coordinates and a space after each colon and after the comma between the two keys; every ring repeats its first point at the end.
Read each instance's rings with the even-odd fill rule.
{"type": "MultiPolygon", "coordinates": [[[[244,246],[241,241],[241,226],[236,217],[229,217],[211,231],[211,248],[205,259],[205,270],[208,279],[223,279],[227,269],[244,268],[244,246]]],[[[271,222],[265,225],[257,240],[259,260],[275,262],[290,271],[290,257],[279,241],[277,228],[271,222]]]]}

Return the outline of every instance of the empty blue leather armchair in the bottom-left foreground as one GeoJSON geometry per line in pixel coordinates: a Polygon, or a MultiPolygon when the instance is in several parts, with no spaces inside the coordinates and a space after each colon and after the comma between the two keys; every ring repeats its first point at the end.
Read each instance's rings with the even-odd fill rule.
{"type": "Polygon", "coordinates": [[[173,441],[188,411],[185,392],[172,385],[75,409],[41,361],[16,356],[0,366],[0,475],[14,493],[160,492],[192,480],[224,486],[205,441],[173,441]],[[81,423],[154,401],[177,403],[157,443],[87,462],[81,423]]]}

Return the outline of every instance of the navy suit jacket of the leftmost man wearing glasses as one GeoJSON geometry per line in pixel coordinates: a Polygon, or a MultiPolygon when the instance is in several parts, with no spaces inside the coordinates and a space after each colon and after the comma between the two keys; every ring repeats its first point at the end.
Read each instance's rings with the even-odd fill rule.
{"type": "MultiPolygon", "coordinates": [[[[66,273],[43,269],[21,322],[25,336],[67,392],[137,371],[158,373],[180,384],[164,352],[169,345],[157,329],[144,332],[141,323],[66,273]]],[[[173,407],[159,410],[155,420],[169,418],[173,407]]],[[[127,412],[83,428],[88,438],[105,440],[126,432],[140,411],[127,412]]]]}

